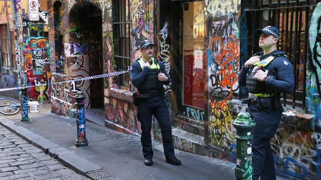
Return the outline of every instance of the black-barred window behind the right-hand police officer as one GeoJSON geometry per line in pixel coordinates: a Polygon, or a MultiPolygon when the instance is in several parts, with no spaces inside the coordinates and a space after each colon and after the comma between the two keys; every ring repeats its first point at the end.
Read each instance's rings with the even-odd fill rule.
{"type": "MultiPolygon", "coordinates": [[[[295,88],[292,94],[283,94],[281,102],[284,107],[303,109],[305,107],[305,79],[308,44],[308,0],[247,0],[244,4],[245,21],[248,31],[246,61],[254,53],[261,51],[258,47],[256,29],[275,26],[280,30],[278,50],[284,51],[292,63],[295,88]]],[[[242,20],[241,20],[242,21],[242,20]]],[[[243,20],[244,21],[244,20],[243,20]]],[[[242,24],[241,23],[241,24],[242,24]]]]}

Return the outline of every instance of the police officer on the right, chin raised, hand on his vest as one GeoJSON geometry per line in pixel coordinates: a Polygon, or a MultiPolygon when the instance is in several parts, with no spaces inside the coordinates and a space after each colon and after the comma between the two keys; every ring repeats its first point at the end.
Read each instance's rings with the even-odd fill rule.
{"type": "Polygon", "coordinates": [[[281,120],[281,93],[292,93],[294,76],[292,65],[282,51],[277,50],[280,32],[273,26],[260,32],[259,47],[263,52],[247,60],[238,75],[240,86],[246,86],[249,98],[247,112],[256,123],[252,130],[253,180],[276,180],[273,150],[270,140],[281,120]]]}

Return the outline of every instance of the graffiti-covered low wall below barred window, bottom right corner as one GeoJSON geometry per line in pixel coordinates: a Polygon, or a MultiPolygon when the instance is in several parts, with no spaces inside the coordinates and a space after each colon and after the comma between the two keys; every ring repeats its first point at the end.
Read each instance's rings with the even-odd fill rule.
{"type": "Polygon", "coordinates": [[[276,171],[294,179],[320,179],[320,133],[283,125],[271,141],[276,171]]]}

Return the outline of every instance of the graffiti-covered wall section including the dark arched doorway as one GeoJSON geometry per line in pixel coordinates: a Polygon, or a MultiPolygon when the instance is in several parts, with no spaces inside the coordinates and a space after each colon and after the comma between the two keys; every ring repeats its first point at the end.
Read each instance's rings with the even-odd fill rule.
{"type": "MultiPolygon", "coordinates": [[[[112,69],[112,2],[49,1],[49,46],[53,81],[89,77],[112,69]],[[104,51],[103,51],[104,49],[104,51]]],[[[112,79],[91,79],[52,86],[52,111],[69,115],[75,95],[85,93],[85,107],[104,107],[104,86],[112,79]]],[[[105,99],[106,100],[106,99],[105,99]]]]}

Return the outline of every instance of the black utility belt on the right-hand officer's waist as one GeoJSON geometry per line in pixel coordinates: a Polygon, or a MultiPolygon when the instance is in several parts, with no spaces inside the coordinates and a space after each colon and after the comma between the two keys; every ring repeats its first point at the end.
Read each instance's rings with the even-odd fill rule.
{"type": "Polygon", "coordinates": [[[257,106],[260,110],[270,112],[280,108],[281,106],[280,100],[276,99],[275,96],[246,98],[242,99],[242,101],[248,106],[257,106]]]}

